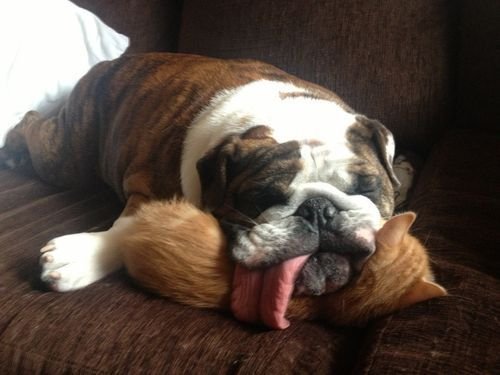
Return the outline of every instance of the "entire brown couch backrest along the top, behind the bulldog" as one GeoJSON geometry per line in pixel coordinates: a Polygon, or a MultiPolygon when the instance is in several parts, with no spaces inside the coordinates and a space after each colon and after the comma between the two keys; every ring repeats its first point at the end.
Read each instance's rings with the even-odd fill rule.
{"type": "Polygon", "coordinates": [[[500,125],[498,0],[73,0],[130,52],[255,58],[336,91],[425,151],[500,125]]]}

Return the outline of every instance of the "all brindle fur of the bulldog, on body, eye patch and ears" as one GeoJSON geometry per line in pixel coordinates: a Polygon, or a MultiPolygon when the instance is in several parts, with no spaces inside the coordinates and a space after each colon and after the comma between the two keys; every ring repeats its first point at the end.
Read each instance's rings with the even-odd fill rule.
{"type": "MultiPolygon", "coordinates": [[[[283,93],[282,100],[323,99],[352,113],[331,91],[262,62],[128,55],[96,65],[56,116],[27,113],[0,149],[0,163],[31,160],[41,178],[63,187],[104,182],[127,202],[123,215],[130,215],[144,201],[182,196],[181,158],[189,126],[218,93],[258,80],[293,83],[297,91],[283,93]]],[[[360,182],[347,193],[369,196],[363,178],[375,178],[382,189],[374,190],[389,203],[369,197],[389,216],[392,184],[387,176],[392,169],[387,155],[380,155],[384,140],[373,121],[361,120],[348,132],[348,141],[366,165],[351,163],[348,172],[360,182]]],[[[288,187],[303,168],[301,145],[294,140],[278,144],[265,125],[273,126],[229,134],[198,162],[203,206],[219,218],[253,225],[263,210],[289,198],[288,187]]]]}

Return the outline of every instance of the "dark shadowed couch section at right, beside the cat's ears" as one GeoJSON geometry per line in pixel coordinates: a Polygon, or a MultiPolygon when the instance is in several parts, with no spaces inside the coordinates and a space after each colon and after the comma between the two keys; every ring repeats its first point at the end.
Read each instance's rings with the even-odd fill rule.
{"type": "Polygon", "coordinates": [[[500,135],[453,131],[434,148],[415,187],[415,230],[435,256],[500,273],[500,135]]]}

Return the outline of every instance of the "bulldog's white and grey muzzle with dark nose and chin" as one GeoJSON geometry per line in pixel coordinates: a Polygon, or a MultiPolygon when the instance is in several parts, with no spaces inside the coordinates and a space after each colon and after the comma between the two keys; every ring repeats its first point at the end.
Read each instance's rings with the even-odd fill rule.
{"type": "Polygon", "coordinates": [[[236,231],[233,259],[252,269],[309,255],[295,294],[320,295],[347,284],[373,254],[380,214],[366,197],[309,183],[288,205],[270,208],[258,221],[236,231]]]}

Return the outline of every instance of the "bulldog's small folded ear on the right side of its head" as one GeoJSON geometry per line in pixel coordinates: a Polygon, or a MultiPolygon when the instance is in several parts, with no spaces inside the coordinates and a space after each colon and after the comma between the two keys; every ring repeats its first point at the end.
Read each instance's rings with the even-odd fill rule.
{"type": "Polygon", "coordinates": [[[389,176],[394,188],[400,186],[400,182],[394,173],[393,161],[396,152],[394,136],[382,123],[377,120],[369,119],[366,116],[357,115],[356,121],[365,126],[370,132],[371,140],[377,151],[378,158],[389,176]]]}

